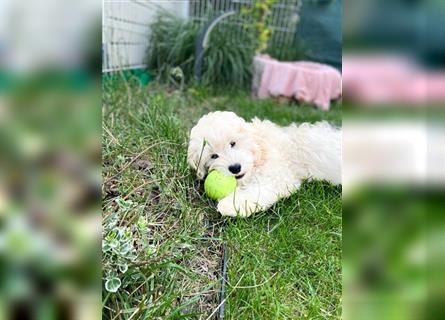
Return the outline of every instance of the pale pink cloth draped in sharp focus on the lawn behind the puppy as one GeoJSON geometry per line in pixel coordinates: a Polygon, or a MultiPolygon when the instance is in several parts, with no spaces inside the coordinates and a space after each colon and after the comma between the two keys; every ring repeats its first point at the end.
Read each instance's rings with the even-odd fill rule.
{"type": "Polygon", "coordinates": [[[331,99],[341,96],[341,73],[320,63],[281,62],[268,56],[256,56],[264,66],[258,90],[259,98],[294,97],[329,110],[331,99]]]}

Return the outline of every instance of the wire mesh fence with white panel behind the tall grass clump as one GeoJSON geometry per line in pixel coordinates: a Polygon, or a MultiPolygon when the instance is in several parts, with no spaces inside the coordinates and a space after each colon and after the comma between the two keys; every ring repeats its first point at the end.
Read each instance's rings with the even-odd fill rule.
{"type": "MultiPolygon", "coordinates": [[[[269,27],[273,31],[269,46],[279,52],[294,46],[302,0],[278,0],[272,7],[269,27]]],[[[160,11],[205,24],[215,15],[235,11],[222,24],[231,24],[233,41],[243,39],[246,18],[243,8],[254,0],[104,0],[102,21],[102,72],[146,67],[150,45],[150,24],[160,11]]]]}

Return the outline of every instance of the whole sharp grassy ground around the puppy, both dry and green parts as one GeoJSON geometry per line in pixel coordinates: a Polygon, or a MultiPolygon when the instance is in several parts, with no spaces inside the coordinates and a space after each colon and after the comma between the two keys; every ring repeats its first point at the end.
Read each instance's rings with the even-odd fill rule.
{"type": "Polygon", "coordinates": [[[103,277],[116,292],[103,291],[104,318],[207,319],[219,303],[223,243],[226,319],[340,318],[341,188],[307,182],[267,212],[220,217],[186,164],[188,131],[212,110],[341,123],[338,105],[325,113],[241,92],[107,86],[103,277]]]}

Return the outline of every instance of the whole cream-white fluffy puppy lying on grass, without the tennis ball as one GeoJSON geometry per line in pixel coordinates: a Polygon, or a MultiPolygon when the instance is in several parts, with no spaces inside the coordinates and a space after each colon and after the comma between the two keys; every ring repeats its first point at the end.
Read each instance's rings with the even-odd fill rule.
{"type": "Polygon", "coordinates": [[[235,176],[237,188],[218,211],[247,217],[289,196],[303,179],[340,184],[341,131],[327,122],[280,127],[211,112],[190,133],[188,163],[199,179],[213,169],[235,176]]]}

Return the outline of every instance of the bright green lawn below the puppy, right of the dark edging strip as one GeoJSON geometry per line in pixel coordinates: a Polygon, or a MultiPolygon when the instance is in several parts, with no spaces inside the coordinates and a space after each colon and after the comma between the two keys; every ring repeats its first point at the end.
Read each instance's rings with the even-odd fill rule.
{"type": "Polygon", "coordinates": [[[341,190],[306,183],[250,220],[226,225],[233,319],[340,318],[341,190]]]}

